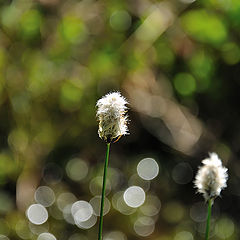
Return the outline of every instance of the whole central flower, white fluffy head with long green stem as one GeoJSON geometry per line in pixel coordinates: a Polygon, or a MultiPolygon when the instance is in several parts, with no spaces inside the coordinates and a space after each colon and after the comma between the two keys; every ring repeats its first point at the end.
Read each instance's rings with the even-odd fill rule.
{"type": "Polygon", "coordinates": [[[123,96],[121,96],[119,92],[108,93],[97,101],[98,109],[96,115],[99,122],[98,135],[107,143],[107,152],[103,172],[98,240],[102,240],[103,209],[110,144],[112,142],[116,142],[121,136],[128,133],[126,104],[128,104],[128,102],[123,96]]]}

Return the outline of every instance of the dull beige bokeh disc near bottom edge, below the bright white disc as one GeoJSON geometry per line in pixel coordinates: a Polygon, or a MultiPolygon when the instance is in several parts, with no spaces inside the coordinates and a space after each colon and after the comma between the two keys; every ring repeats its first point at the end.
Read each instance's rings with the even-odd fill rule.
{"type": "Polygon", "coordinates": [[[137,235],[147,237],[154,232],[155,222],[150,217],[140,217],[134,223],[134,230],[137,235]]]}

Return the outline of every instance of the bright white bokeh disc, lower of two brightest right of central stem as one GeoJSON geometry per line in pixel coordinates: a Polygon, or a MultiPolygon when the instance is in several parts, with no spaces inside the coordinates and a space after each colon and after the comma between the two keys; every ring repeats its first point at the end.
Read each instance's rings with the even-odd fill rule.
{"type": "Polygon", "coordinates": [[[123,194],[123,199],[130,207],[140,207],[145,201],[145,192],[141,187],[129,187],[123,194]]]}

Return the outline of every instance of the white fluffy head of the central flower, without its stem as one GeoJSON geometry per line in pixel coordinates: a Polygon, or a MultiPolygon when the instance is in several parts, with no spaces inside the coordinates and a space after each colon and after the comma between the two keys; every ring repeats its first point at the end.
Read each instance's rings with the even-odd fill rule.
{"type": "Polygon", "coordinates": [[[98,135],[108,143],[128,133],[126,104],[119,92],[108,93],[97,101],[98,135]]]}

